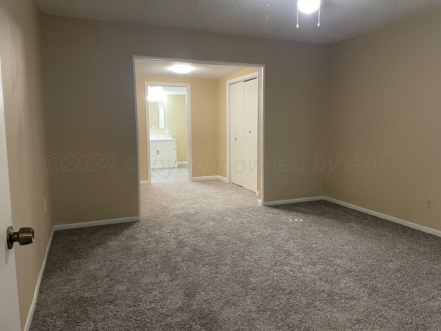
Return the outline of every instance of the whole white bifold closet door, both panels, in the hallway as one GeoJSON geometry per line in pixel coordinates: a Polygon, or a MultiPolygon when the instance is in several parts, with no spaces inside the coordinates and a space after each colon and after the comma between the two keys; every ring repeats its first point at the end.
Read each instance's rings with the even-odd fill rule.
{"type": "Polygon", "coordinates": [[[258,79],[229,87],[232,183],[257,192],[258,79]]]}

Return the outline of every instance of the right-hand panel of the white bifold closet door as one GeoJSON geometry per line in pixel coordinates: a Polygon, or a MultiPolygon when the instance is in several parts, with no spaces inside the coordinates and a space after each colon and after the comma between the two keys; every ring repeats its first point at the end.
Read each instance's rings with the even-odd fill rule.
{"type": "Polygon", "coordinates": [[[243,104],[243,159],[246,163],[243,187],[257,192],[257,117],[258,117],[258,80],[244,82],[243,104]]]}

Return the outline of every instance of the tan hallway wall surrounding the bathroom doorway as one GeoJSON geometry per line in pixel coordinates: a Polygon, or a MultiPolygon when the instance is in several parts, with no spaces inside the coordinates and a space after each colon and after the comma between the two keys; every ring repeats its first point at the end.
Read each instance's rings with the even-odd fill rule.
{"type": "MultiPolygon", "coordinates": [[[[193,177],[217,174],[216,80],[188,79],[185,77],[136,76],[141,181],[147,180],[147,152],[145,146],[147,136],[145,134],[145,97],[143,90],[145,81],[190,84],[193,177]]],[[[167,110],[165,110],[165,113],[167,113],[167,110]]]]}

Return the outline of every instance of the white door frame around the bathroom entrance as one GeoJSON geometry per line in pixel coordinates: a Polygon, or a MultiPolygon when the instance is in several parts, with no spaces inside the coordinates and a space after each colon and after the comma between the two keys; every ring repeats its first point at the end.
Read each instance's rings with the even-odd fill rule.
{"type": "Polygon", "coordinates": [[[192,180],[192,110],[190,103],[190,84],[189,83],[162,83],[158,81],[145,81],[144,82],[144,98],[145,98],[145,128],[147,130],[146,143],[147,143],[147,174],[149,177],[149,183],[152,183],[152,172],[150,167],[150,139],[149,139],[149,106],[147,102],[147,94],[149,86],[170,86],[176,88],[185,88],[185,108],[187,113],[187,169],[188,180],[192,180]]]}

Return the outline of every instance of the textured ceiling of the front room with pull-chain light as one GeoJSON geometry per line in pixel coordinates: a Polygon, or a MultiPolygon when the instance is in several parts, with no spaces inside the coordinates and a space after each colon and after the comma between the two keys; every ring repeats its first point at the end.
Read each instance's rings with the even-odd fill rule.
{"type": "Polygon", "coordinates": [[[441,9],[441,0],[322,0],[320,28],[316,13],[300,14],[296,28],[296,0],[36,2],[43,14],[309,43],[334,43],[441,9]]]}

